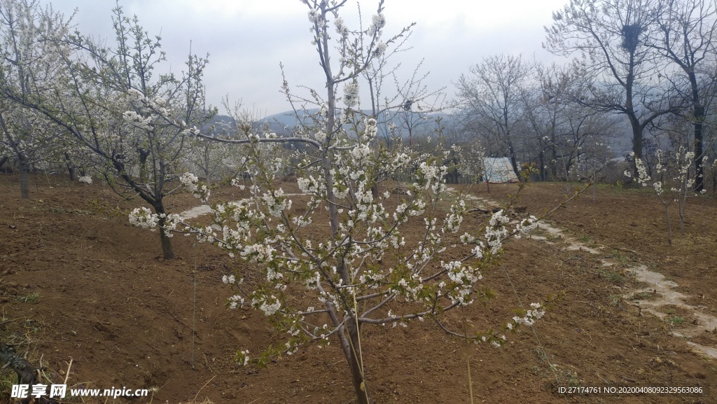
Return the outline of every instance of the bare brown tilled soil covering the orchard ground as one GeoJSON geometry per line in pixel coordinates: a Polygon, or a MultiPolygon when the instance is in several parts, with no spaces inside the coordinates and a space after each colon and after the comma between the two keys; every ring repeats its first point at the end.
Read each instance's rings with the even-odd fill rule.
{"type": "MultiPolygon", "coordinates": [[[[53,382],[65,379],[72,359],[69,385],[153,390],[153,397],[132,403],[355,401],[336,344],[304,347],[265,369],[234,363],[237,349],[260,352],[279,336],[260,313],[224,305],[233,294],[221,281],[233,265],[227,255],[211,245],[195,249],[194,240],[176,236],[178,258],[162,260],[158,235],[128,223],[126,213],[141,206],[138,200],[124,201],[102,184],[43,177],[38,176],[31,199],[21,200],[17,177],[0,176],[0,342],[16,344],[37,365],[42,361],[53,382]]],[[[561,202],[566,188],[533,184],[518,203],[539,215],[561,202]]],[[[500,185],[490,193],[485,186],[471,192],[505,200],[515,191],[514,185],[500,185]]],[[[232,199],[240,193],[226,188],[214,194],[232,199]]],[[[168,202],[171,212],[199,205],[187,194],[168,202]]],[[[603,255],[568,250],[559,242],[511,240],[500,265],[483,274],[498,298],[488,306],[450,312],[446,323],[484,330],[511,317],[521,303],[558,293],[562,299],[534,329],[509,334],[499,349],[450,337],[428,321],[407,328],[366,327],[366,378],[374,402],[470,403],[470,360],[476,403],[717,403],[717,361],[695,354],[685,339],[671,334],[672,327],[687,325],[639,316],[621,297],[640,287],[629,268],[642,263],[678,283],[692,296],[690,304],[717,314],[717,203],[707,197],[690,200],[685,235],[679,234],[676,213],[675,240],[668,245],[655,197],[599,187],[596,202],[585,194],[549,222],[602,248],[603,255]],[[619,261],[621,268],[605,268],[602,258],[619,261]],[[706,393],[558,391],[576,386],[701,386],[706,393]]],[[[479,229],[484,220],[469,215],[464,226],[479,229]]],[[[683,316],[690,321],[689,314],[683,316]]],[[[717,331],[705,333],[695,342],[715,347],[716,337],[717,331]]],[[[9,400],[8,380],[5,372],[0,400],[9,400]]]]}

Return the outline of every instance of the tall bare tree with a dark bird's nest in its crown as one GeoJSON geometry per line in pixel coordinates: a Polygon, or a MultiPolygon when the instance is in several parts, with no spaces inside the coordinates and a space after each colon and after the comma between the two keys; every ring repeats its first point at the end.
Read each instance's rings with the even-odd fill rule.
{"type": "Polygon", "coordinates": [[[653,0],[571,0],[553,13],[543,47],[556,55],[578,54],[585,91],[574,101],[624,115],[632,127],[632,151],[642,157],[645,127],[680,108],[664,58],[645,45],[653,0]]]}

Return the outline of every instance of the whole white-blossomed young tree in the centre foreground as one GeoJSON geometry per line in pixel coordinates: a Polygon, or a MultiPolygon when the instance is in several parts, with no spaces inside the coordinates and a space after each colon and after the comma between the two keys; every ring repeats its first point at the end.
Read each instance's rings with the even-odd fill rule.
{"type": "MultiPolygon", "coordinates": [[[[465,203],[459,199],[450,206],[440,206],[446,194],[447,167],[431,156],[376,156],[371,148],[376,120],[357,116],[352,110],[358,95],[355,79],[372,58],[381,55],[405,31],[381,40],[385,24],[382,1],[371,25],[356,31],[348,29],[341,19],[339,11],[346,1],[303,3],[309,9],[313,44],[326,77],[325,99],[310,90],[310,97],[320,103],[320,111],[303,120],[295,136],[252,133],[245,126],[242,138],[217,139],[247,144],[254,181],[251,196],[215,205],[215,226],[191,231],[261,269],[263,277],[253,290],[241,284],[239,272],[224,278],[227,283],[236,283],[239,291],[230,299],[232,308],[250,305],[287,333],[285,344],[270,347],[257,362],[265,364],[274,356],[291,354],[300,344],[328,344],[337,339],[359,403],[368,404],[362,327],[435,319],[450,331],[440,322],[440,315],[490,299],[490,289],[480,285],[481,269],[498,257],[506,238],[537,223],[531,217],[508,230],[508,217],[498,212],[480,235],[460,236],[465,203]],[[332,46],[328,34],[332,26],[338,33],[338,47],[332,46]],[[338,49],[338,66],[332,62],[334,49],[338,49]],[[342,84],[340,98],[338,88],[342,84]],[[339,115],[340,100],[346,108],[339,115]],[[305,194],[301,202],[305,208],[298,211],[292,210],[298,199],[285,194],[275,182],[282,161],[277,161],[270,148],[285,142],[300,142],[308,149],[297,167],[297,184],[305,194]],[[371,189],[377,172],[395,172],[414,161],[419,164],[411,170],[405,194],[386,189],[374,197],[371,189]],[[322,213],[325,210],[326,215],[322,213]],[[423,230],[407,234],[406,223],[414,221],[422,223],[423,230]],[[445,255],[454,244],[460,245],[455,248],[463,259],[455,259],[457,255],[452,253],[445,255]],[[297,292],[305,297],[298,298],[294,295],[297,292]]],[[[283,87],[295,103],[288,84],[283,87]]],[[[206,198],[206,186],[192,174],[181,180],[196,196],[206,198]]],[[[158,225],[158,215],[146,209],[138,210],[135,217],[139,225],[158,225]]],[[[179,219],[173,216],[170,220],[175,227],[179,219]]],[[[499,345],[503,332],[518,324],[532,324],[543,313],[540,304],[534,304],[497,330],[472,338],[499,345]]],[[[247,351],[237,352],[237,357],[244,365],[250,362],[247,351]]]]}

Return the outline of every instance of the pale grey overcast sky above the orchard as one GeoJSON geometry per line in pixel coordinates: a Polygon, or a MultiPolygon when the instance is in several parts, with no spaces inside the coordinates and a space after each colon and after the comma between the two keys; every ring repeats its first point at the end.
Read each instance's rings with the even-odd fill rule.
{"type": "MultiPolygon", "coordinates": [[[[416,22],[400,56],[404,75],[424,58],[430,72],[429,88],[446,87],[455,95],[455,82],[468,67],[497,53],[523,54],[526,59],[558,60],[542,49],[543,25],[568,0],[386,0],[384,37],[416,22]],[[409,68],[410,67],[410,68],[409,68]]],[[[41,0],[66,15],[77,9],[73,21],[80,32],[113,39],[111,9],[115,0],[41,0]]],[[[360,1],[370,22],[378,1],[360,1]]],[[[219,105],[224,95],[242,100],[245,108],[262,115],[289,109],[279,92],[279,63],[290,85],[322,90],[318,55],[311,47],[308,7],[299,0],[124,0],[125,14],[136,15],[150,34],[160,34],[171,70],[179,72],[186,55],[209,53],[204,81],[209,103],[219,105]]],[[[356,2],[344,7],[351,22],[356,2]]],[[[333,29],[332,29],[333,32],[333,29]]],[[[220,108],[220,113],[222,110],[220,108]]]]}

